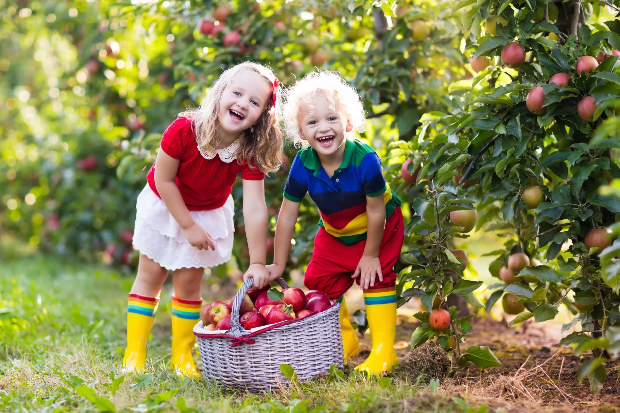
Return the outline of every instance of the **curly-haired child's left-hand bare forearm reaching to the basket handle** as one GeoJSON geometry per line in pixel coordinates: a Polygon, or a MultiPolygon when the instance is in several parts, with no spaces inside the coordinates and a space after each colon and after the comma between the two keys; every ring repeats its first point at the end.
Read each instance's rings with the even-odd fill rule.
{"type": "Polygon", "coordinates": [[[299,217],[301,202],[293,202],[284,198],[278,214],[278,222],[275,225],[275,242],[273,245],[273,264],[268,266],[269,279],[275,280],[280,277],[286,267],[288,253],[291,249],[291,239],[295,232],[295,224],[299,217]]]}

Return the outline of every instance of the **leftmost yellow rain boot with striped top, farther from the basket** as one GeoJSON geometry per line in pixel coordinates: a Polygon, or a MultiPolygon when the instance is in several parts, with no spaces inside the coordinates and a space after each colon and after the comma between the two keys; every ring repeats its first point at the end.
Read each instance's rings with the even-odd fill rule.
{"type": "Polygon", "coordinates": [[[130,294],[127,304],[127,347],[123,370],[140,373],[146,363],[146,341],[151,334],[159,298],[130,294]]]}

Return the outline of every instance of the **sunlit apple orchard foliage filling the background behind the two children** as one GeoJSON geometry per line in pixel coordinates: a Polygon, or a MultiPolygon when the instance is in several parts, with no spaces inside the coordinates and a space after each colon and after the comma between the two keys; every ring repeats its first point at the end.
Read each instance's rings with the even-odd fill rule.
{"type": "MultiPolygon", "coordinates": [[[[161,134],[221,72],[252,60],[285,86],[334,69],[360,94],[368,121],[358,137],[377,150],[404,201],[397,292],[401,313],[417,318],[402,328],[405,347],[435,339],[453,349],[450,375],[473,362],[476,376],[500,360],[479,337],[472,343],[484,346],[463,339],[472,333],[466,313],[522,323],[524,332],[544,322],[536,326],[549,343],[575,350],[565,389],[587,378],[588,391],[601,391],[620,355],[619,11],[619,0],[0,0],[5,354],[22,354],[17,325],[32,327],[17,303],[41,305],[41,283],[64,308],[79,283],[63,268],[86,266],[74,279],[100,285],[118,308],[92,306],[105,322],[75,320],[91,336],[113,334],[107,351],[118,364],[122,289],[138,258],[135,201],[161,134]],[[550,82],[554,74],[563,81],[550,82]],[[469,218],[459,225],[456,211],[469,218]],[[469,259],[463,267],[455,249],[469,259]],[[530,265],[511,268],[516,254],[530,265]],[[519,300],[510,311],[508,295],[519,300]],[[449,329],[435,331],[420,305],[461,314],[451,310],[449,329]]],[[[269,237],[295,152],[287,143],[288,161],[265,180],[269,237]]],[[[212,287],[231,280],[234,290],[247,265],[238,184],[234,257],[208,271],[212,287]]],[[[286,274],[297,282],[317,220],[306,197],[286,274]]],[[[56,328],[73,328],[56,316],[56,328]]],[[[363,312],[355,320],[365,331],[363,312]]]]}

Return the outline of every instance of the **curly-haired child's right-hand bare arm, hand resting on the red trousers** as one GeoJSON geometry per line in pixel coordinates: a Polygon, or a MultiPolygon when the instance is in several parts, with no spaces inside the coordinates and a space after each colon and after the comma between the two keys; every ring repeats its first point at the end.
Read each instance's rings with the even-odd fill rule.
{"type": "Polygon", "coordinates": [[[383,281],[379,249],[383,240],[383,231],[386,225],[386,205],[384,195],[366,196],[366,215],[368,215],[368,229],[366,230],[366,246],[357,264],[353,278],[360,278],[360,288],[367,290],[374,287],[374,280],[379,276],[383,281]]]}

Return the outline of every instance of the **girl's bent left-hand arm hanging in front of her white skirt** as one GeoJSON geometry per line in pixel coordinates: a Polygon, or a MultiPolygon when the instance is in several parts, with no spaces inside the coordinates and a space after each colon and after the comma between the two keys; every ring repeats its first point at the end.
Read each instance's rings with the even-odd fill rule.
{"type": "Polygon", "coordinates": [[[198,248],[198,250],[215,250],[213,240],[205,228],[196,224],[192,214],[188,211],[183,197],[179,191],[179,187],[174,182],[179,170],[179,159],[174,159],[166,154],[164,150],[157,152],[155,161],[155,188],[162,201],[166,204],[166,208],[170,211],[170,215],[177,221],[179,226],[183,228],[185,237],[190,245],[198,248]]]}

